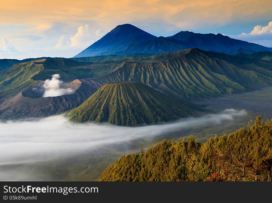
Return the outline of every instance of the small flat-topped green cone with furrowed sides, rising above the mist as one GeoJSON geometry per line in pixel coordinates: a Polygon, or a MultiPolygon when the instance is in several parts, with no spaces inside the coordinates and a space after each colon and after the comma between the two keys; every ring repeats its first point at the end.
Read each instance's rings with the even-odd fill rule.
{"type": "Polygon", "coordinates": [[[67,115],[75,122],[95,121],[137,126],[172,121],[198,113],[183,101],[140,82],[115,82],[101,87],[67,115]]]}

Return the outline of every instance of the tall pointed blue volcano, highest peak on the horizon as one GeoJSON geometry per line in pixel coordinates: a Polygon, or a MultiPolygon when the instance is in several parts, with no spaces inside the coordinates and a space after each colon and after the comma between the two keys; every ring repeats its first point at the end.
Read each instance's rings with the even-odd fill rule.
{"type": "Polygon", "coordinates": [[[131,24],[118,25],[100,40],[93,43],[74,57],[90,57],[115,54],[125,49],[128,44],[157,38],[131,24]]]}

